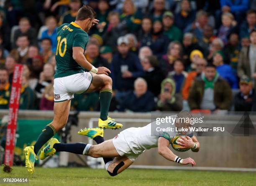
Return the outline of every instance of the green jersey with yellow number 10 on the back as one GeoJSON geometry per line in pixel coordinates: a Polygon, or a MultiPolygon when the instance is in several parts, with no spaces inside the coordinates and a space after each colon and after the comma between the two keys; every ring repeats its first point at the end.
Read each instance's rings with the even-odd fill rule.
{"type": "Polygon", "coordinates": [[[57,30],[56,48],[56,73],[54,78],[61,78],[68,75],[84,72],[72,57],[73,47],[81,47],[85,50],[89,36],[76,23],[62,24],[57,30]]]}

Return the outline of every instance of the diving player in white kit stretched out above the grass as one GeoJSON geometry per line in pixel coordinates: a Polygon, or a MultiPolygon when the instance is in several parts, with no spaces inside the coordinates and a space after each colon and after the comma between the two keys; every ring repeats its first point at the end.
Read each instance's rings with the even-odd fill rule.
{"type": "MultiPolygon", "coordinates": [[[[182,113],[181,113],[182,115],[182,113]]],[[[176,116],[173,116],[176,117],[176,116]]],[[[178,114],[178,117],[179,114],[178,114]]],[[[175,123],[176,127],[189,128],[190,123],[175,123]]],[[[43,160],[47,156],[53,156],[56,152],[66,151],[76,154],[83,154],[94,158],[103,157],[105,168],[110,176],[115,176],[121,173],[147,149],[158,148],[161,156],[169,161],[174,161],[182,165],[196,163],[192,158],[179,158],[169,148],[172,137],[186,135],[181,140],[178,139],[178,144],[181,148],[191,148],[193,152],[198,152],[200,143],[191,132],[156,132],[151,133],[151,123],[144,127],[127,128],[120,132],[113,139],[104,141],[103,130],[100,128],[84,128],[78,134],[93,138],[97,145],[86,143],[59,143],[56,138],[52,138],[49,144],[41,151],[40,159],[43,160]]]]}

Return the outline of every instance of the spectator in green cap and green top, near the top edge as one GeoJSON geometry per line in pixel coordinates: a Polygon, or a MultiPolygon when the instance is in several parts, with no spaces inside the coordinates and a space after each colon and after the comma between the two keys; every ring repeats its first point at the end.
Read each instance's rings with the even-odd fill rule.
{"type": "Polygon", "coordinates": [[[170,41],[182,41],[182,31],[174,25],[174,16],[172,12],[166,11],[163,15],[164,35],[167,35],[170,41]]]}

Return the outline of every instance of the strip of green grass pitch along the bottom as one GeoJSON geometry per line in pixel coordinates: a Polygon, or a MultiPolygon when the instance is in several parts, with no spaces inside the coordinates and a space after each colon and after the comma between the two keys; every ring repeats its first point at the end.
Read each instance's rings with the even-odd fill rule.
{"type": "MultiPolygon", "coordinates": [[[[11,173],[0,170],[0,177],[27,177],[33,186],[255,186],[256,173],[225,171],[181,171],[127,169],[111,177],[103,169],[38,168],[32,175],[25,167],[13,167],[11,173]]],[[[0,184],[7,185],[7,184],[0,184]]],[[[10,184],[8,184],[10,185],[10,184]]],[[[18,184],[11,184],[12,186],[18,184]]],[[[20,185],[20,184],[19,184],[20,185]]]]}

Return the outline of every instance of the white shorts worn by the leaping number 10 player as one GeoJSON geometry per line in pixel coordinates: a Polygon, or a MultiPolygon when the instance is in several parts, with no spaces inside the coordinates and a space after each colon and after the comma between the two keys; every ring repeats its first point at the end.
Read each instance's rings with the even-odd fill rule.
{"type": "Polygon", "coordinates": [[[77,73],[54,79],[54,102],[67,101],[74,98],[74,94],[84,93],[92,83],[89,72],[77,73]]]}

